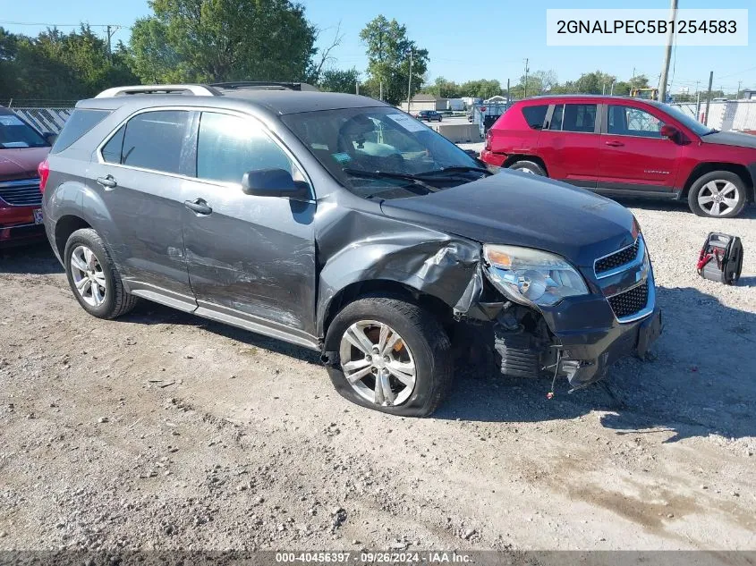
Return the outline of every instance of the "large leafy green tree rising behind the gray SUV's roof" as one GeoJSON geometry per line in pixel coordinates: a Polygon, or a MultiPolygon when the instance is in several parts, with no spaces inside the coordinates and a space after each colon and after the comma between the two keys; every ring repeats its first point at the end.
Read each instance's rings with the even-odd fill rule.
{"type": "Polygon", "coordinates": [[[147,81],[306,80],[317,30],[289,0],[149,0],[132,30],[147,81]]]}

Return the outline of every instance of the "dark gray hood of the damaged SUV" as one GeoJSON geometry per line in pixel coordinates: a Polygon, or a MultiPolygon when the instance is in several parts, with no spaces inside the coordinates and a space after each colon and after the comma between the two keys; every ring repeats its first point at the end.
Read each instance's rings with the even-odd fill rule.
{"type": "Polygon", "coordinates": [[[579,266],[633,243],[633,215],[616,202],[562,182],[502,171],[410,199],[386,200],[385,215],[479,241],[543,249],[579,266]]]}

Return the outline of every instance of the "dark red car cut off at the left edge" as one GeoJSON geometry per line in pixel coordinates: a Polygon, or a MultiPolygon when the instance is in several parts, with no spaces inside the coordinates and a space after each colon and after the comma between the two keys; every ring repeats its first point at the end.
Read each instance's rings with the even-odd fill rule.
{"type": "Polygon", "coordinates": [[[0,106],[0,246],[44,239],[38,165],[50,139],[0,106]]]}

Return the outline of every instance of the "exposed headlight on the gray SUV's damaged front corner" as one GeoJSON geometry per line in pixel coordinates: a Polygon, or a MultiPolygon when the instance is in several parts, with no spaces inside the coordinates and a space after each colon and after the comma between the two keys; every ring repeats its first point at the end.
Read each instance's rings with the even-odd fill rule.
{"type": "Polygon", "coordinates": [[[491,282],[515,302],[548,307],[565,297],[588,294],[574,267],[546,251],[487,244],[483,257],[491,282]]]}

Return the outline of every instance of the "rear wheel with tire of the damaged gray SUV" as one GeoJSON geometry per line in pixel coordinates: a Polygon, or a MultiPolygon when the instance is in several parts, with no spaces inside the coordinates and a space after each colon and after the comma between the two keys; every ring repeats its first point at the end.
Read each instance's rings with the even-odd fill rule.
{"type": "Polygon", "coordinates": [[[93,317],[106,319],[120,317],[132,310],[139,302],[138,297],[128,294],[123,289],[121,275],[118,274],[113,259],[110,258],[105,242],[102,241],[98,232],[91,228],[82,228],[71,234],[65,244],[64,263],[65,274],[73,291],[73,296],[79,301],[81,308],[93,317]],[[86,265],[93,272],[91,278],[77,267],[81,265],[82,259],[87,258],[86,250],[89,250],[94,256],[94,261],[86,265]],[[74,255],[76,258],[74,258],[74,255]],[[82,285],[84,290],[79,291],[77,278],[79,283],[89,278],[89,288],[84,282],[82,285]],[[94,291],[95,284],[98,285],[97,293],[94,291]],[[104,291],[102,291],[103,289],[104,291]],[[97,300],[98,295],[101,296],[99,302],[97,300]]]}

